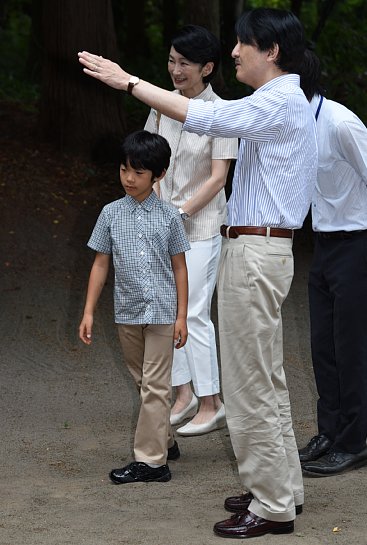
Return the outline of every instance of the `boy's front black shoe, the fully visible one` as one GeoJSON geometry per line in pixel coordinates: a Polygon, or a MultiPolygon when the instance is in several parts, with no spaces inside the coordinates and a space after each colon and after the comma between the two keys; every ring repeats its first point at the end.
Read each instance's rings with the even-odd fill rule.
{"type": "Polygon", "coordinates": [[[113,469],[110,479],[114,484],[166,482],[171,480],[171,472],[167,465],[150,467],[144,462],[132,462],[121,469],[113,469]]]}

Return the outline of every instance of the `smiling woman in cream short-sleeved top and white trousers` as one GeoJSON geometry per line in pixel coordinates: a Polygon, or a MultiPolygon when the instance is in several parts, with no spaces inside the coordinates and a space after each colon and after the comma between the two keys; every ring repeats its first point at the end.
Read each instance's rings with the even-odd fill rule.
{"type": "MultiPolygon", "coordinates": [[[[195,25],[183,27],[172,40],[168,59],[174,92],[214,101],[218,96],[209,82],[219,61],[219,41],[211,32],[195,25]]],[[[172,385],[176,387],[176,400],[171,424],[193,416],[177,433],[200,435],[225,425],[210,307],[221,250],[219,228],[226,219],[224,185],[231,159],[237,157],[238,143],[237,139],[185,132],[181,123],[155,110],[150,112],[145,128],[159,132],[171,146],[170,167],[155,189],[181,212],[191,245],[186,252],[189,337],[186,346],[174,355],[172,385]]]]}

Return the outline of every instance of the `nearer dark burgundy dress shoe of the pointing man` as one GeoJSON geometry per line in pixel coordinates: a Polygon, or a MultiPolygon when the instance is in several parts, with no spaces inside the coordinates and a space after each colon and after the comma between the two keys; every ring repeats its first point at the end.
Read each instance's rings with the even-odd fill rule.
{"type": "Polygon", "coordinates": [[[230,519],[214,524],[214,533],[221,537],[247,538],[265,534],[291,534],[294,521],[275,522],[258,517],[250,511],[233,515],[230,519]]]}

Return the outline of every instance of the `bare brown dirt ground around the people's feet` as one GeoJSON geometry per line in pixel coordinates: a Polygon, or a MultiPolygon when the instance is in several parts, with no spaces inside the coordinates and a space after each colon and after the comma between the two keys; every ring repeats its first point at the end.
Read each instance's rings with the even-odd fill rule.
{"type": "MultiPolygon", "coordinates": [[[[121,195],[116,172],[56,152],[32,114],[0,104],[0,366],[2,545],[209,545],[240,493],[228,430],[179,439],[168,483],[114,486],[131,460],[138,398],[113,324],[112,283],[91,347],[78,340],[103,204],[121,195]]],[[[285,368],[299,445],[316,432],[309,351],[310,234],[295,241],[284,306],[285,368]]],[[[215,319],[215,305],[213,305],[215,319]]],[[[366,545],[367,467],[305,479],[304,512],[289,536],[257,545],[366,545]]]]}

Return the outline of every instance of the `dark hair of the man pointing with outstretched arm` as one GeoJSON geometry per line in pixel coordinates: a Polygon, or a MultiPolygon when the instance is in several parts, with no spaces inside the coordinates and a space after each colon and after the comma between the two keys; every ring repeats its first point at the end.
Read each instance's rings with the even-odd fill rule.
{"type": "Polygon", "coordinates": [[[298,73],[305,51],[304,30],[300,20],[291,12],[273,8],[255,8],[241,15],[236,23],[241,43],[267,51],[279,46],[275,64],[284,72],[298,73]]]}

